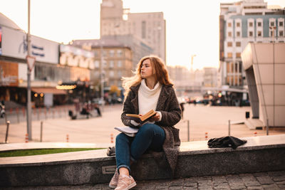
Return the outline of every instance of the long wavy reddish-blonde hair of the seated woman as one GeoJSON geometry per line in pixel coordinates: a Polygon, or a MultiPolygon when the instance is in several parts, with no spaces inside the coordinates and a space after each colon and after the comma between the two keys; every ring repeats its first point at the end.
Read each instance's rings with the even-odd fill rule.
{"type": "Polygon", "coordinates": [[[140,59],[133,77],[125,78],[123,77],[123,88],[125,89],[125,97],[127,97],[130,88],[132,86],[139,85],[142,81],[142,76],[140,75],[140,70],[142,68],[142,62],[144,60],[150,60],[150,64],[152,65],[153,73],[155,74],[155,80],[157,80],[161,85],[173,85],[168,75],[167,67],[163,60],[157,56],[145,56],[140,59]]]}

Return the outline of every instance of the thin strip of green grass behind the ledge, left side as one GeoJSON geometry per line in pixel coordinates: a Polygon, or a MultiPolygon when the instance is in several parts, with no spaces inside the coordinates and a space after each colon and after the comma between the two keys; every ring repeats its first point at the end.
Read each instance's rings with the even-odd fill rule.
{"type": "MultiPolygon", "coordinates": [[[[55,154],[63,152],[77,152],[85,150],[94,150],[95,148],[63,148],[63,149],[17,149],[0,152],[0,157],[25,157],[41,154],[55,154]]],[[[97,148],[99,149],[99,148],[97,148]]]]}

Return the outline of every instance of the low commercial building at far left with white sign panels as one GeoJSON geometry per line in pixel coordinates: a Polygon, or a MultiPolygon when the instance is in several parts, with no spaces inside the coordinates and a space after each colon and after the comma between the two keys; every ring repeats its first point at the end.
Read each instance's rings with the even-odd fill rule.
{"type": "MultiPolygon", "coordinates": [[[[0,14],[0,100],[8,104],[26,105],[26,36],[25,31],[0,14]]],[[[73,102],[73,97],[86,101],[94,96],[90,90],[93,53],[31,35],[31,56],[36,58],[31,71],[32,106],[63,105],[73,102]]]]}

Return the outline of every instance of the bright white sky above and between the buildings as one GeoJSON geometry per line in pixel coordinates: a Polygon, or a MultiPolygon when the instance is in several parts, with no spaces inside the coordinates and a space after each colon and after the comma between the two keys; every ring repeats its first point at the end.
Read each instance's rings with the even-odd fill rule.
{"type": "MultiPolygon", "coordinates": [[[[162,11],[167,65],[219,67],[219,4],[233,0],[123,0],[131,13],[162,11]]],[[[285,7],[285,0],[265,0],[285,7]]],[[[59,43],[100,38],[102,0],[31,0],[31,34],[59,43]]],[[[28,28],[28,0],[0,0],[0,12],[28,28]]]]}

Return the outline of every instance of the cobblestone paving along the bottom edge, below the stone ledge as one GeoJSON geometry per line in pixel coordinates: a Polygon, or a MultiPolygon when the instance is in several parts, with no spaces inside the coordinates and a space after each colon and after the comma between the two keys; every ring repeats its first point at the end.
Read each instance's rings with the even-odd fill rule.
{"type": "MultiPolygon", "coordinates": [[[[35,186],[8,189],[110,189],[108,184],[35,186]]],[[[200,176],[173,180],[137,181],[135,189],[285,189],[285,171],[225,176],[200,176]]]]}

